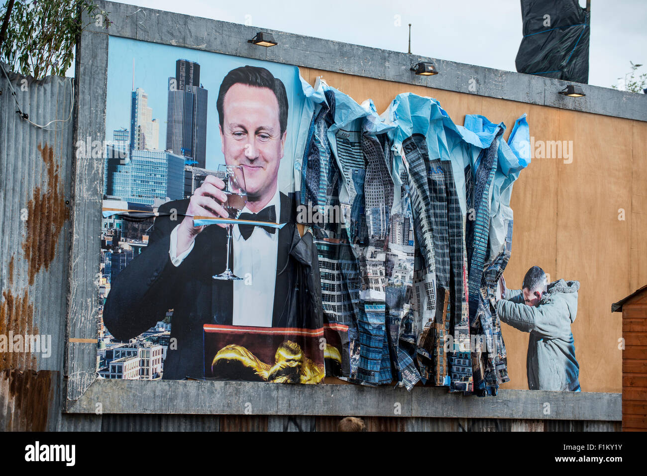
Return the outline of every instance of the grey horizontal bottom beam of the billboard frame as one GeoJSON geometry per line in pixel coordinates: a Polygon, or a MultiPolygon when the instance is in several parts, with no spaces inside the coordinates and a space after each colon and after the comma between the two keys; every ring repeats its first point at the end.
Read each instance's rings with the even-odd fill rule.
{"type": "Polygon", "coordinates": [[[622,420],[620,393],[501,390],[479,398],[441,387],[287,385],[186,380],[96,380],[69,413],[414,416],[622,420]]]}

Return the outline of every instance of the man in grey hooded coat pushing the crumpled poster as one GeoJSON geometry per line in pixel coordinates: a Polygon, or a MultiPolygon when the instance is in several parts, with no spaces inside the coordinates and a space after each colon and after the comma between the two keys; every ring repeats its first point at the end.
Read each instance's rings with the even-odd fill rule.
{"type": "Polygon", "coordinates": [[[571,324],[577,314],[579,281],[559,279],[547,284],[539,266],[523,278],[523,289],[505,288],[499,281],[497,314],[528,340],[527,375],[531,390],[580,391],[580,366],[575,358],[571,324]]]}

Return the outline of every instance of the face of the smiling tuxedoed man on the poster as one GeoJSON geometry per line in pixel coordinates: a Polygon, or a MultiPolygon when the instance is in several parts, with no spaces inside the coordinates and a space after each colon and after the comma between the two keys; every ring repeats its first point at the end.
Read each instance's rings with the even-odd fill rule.
{"type": "Polygon", "coordinates": [[[248,200],[276,192],[287,132],[281,134],[279,103],[267,87],[236,83],[225,94],[220,129],[228,165],[243,166],[248,200]]]}

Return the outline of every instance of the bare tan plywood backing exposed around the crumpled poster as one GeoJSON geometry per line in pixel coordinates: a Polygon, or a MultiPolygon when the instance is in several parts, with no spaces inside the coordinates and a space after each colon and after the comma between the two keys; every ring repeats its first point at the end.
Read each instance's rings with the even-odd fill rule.
{"type": "MultiPolygon", "coordinates": [[[[505,122],[507,137],[514,120],[527,113],[535,144],[572,140],[571,163],[565,164],[565,157],[535,157],[514,184],[512,257],[505,278],[510,288],[519,288],[527,269],[538,265],[551,280],[578,279],[582,289],[573,335],[582,389],[621,391],[621,317],[610,310],[611,303],[647,284],[647,123],[349,74],[300,71],[311,84],[323,76],[359,103],[373,99],[379,112],[400,92],[414,92],[439,100],[457,124],[463,124],[465,114],[483,114],[492,122],[505,122]],[[624,220],[619,220],[620,208],[624,220]]],[[[503,387],[527,389],[528,335],[504,324],[503,337],[511,379],[503,387]]],[[[641,347],[633,349],[642,355],[641,347]]]]}

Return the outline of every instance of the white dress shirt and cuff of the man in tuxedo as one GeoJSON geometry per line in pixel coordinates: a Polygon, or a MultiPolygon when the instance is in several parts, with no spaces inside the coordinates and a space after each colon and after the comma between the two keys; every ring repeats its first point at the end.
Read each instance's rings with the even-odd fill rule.
{"type": "MultiPolygon", "coordinates": [[[[272,205],[274,205],[278,222],[281,216],[281,197],[278,189],[265,207],[272,205]]],[[[247,206],[242,213],[246,212],[252,213],[247,206]]],[[[184,253],[177,255],[177,226],[173,228],[169,250],[171,263],[174,266],[179,266],[193,250],[194,243],[195,241],[184,253]]],[[[238,230],[237,224],[232,228],[234,250],[232,271],[236,276],[243,278],[234,281],[233,325],[272,327],[278,243],[278,229],[274,233],[269,233],[265,228],[255,226],[252,235],[246,240],[238,230]]],[[[222,271],[224,269],[214,270],[216,274],[222,271]]]]}

